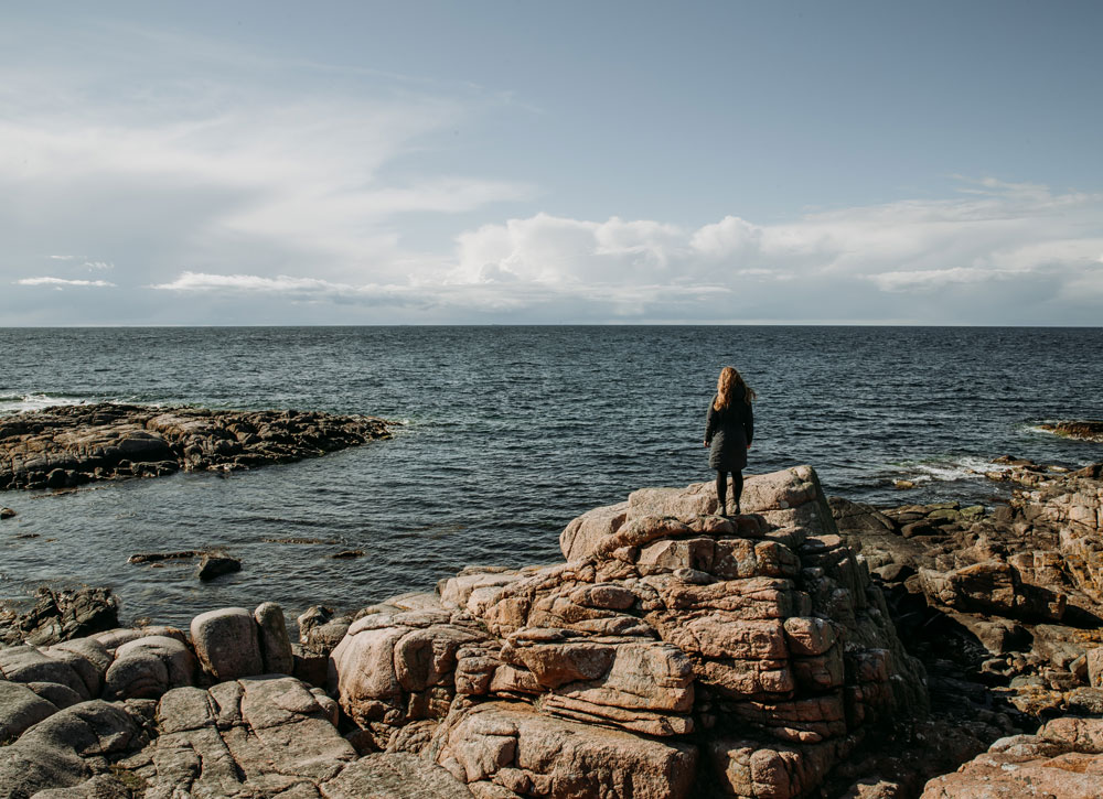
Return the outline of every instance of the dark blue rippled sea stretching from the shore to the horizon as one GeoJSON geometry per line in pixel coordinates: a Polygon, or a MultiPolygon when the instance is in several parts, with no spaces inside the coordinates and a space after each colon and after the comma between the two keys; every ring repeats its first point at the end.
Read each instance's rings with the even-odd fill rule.
{"type": "Polygon", "coordinates": [[[578,514],[709,479],[721,366],[758,391],[748,472],[814,465],[828,494],[994,501],[971,469],[1015,454],[1081,465],[1103,446],[1035,425],[1103,418],[1103,330],[920,327],[266,327],[0,330],[0,413],[118,400],[398,420],[394,440],[231,476],[7,493],[0,597],[111,585],[128,618],[360,607],[465,564],[560,558],[578,514]],[[919,479],[899,492],[893,478],[919,479]],[[21,538],[26,535],[36,538],[21,538]],[[271,538],[328,543],[287,544],[271,538]],[[222,547],[240,573],[129,565],[222,547]],[[365,557],[333,560],[344,549],[365,557]]]}

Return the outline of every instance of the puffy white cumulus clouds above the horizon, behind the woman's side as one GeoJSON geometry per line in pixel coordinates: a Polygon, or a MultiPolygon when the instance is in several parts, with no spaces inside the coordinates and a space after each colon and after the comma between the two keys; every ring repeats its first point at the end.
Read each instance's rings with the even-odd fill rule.
{"type": "Polygon", "coordinates": [[[1032,295],[1040,307],[1067,300],[1065,285],[1095,285],[1085,270],[1103,247],[1103,195],[994,180],[967,188],[956,199],[839,208],[772,225],[727,216],[679,229],[537,214],[460,235],[449,281],[574,287],[579,296],[603,293],[610,304],[636,302],[641,317],[658,311],[662,292],[645,300],[633,294],[636,287],[697,285],[708,318],[761,318],[763,305],[793,320],[846,317],[824,305],[850,301],[878,318],[880,303],[920,322],[946,321],[953,303],[938,294],[945,287],[995,321],[990,301],[1004,294],[1032,295]]]}

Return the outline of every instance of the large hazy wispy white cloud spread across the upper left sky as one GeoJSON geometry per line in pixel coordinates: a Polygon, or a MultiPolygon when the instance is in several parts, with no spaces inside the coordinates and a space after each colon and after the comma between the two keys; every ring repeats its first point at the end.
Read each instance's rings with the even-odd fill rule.
{"type": "Polygon", "coordinates": [[[0,195],[19,197],[0,198],[9,248],[51,251],[61,234],[72,249],[55,252],[106,256],[86,259],[89,271],[310,264],[328,279],[386,281],[409,269],[406,219],[536,196],[525,181],[439,158],[452,129],[511,102],[501,93],[161,31],[69,33],[89,51],[120,35],[129,47],[79,67],[33,52],[35,68],[0,66],[0,195]],[[438,165],[422,168],[421,153],[438,165]]]}

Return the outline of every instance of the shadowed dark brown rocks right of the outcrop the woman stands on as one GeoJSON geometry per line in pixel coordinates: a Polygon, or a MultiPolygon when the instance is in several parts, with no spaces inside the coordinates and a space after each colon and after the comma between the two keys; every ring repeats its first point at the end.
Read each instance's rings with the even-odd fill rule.
{"type": "Polygon", "coordinates": [[[1088,660],[1103,645],[1103,466],[1000,458],[1021,486],[992,509],[872,508],[833,498],[849,546],[927,665],[935,703],[1024,714],[1092,712],[1088,660]]]}

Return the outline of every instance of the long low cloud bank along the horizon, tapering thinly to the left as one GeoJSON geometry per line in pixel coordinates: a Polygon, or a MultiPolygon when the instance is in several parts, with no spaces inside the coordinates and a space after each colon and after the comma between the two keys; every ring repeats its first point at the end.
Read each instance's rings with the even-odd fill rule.
{"type": "Polygon", "coordinates": [[[1080,323],[1090,324],[1103,301],[1103,195],[993,180],[963,192],[784,224],[726,216],[688,230],[538,213],[461,233],[440,266],[401,282],[186,270],[150,288],[242,302],[389,306],[446,320],[960,322],[940,314],[950,307],[978,324],[1043,323],[1054,311],[1075,323],[1080,310],[1080,323]],[[1000,298],[1030,298],[1038,314],[981,313],[1000,298]],[[559,318],[566,307],[585,312],[559,318]]]}

